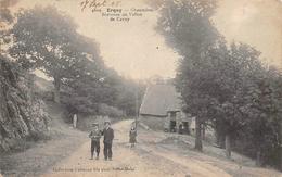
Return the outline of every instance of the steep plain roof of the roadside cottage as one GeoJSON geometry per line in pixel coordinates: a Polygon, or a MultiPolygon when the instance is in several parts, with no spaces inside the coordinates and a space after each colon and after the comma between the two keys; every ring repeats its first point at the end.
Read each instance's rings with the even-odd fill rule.
{"type": "Polygon", "coordinates": [[[152,85],[146,88],[140,114],[166,116],[168,111],[180,111],[180,94],[175,86],[167,84],[152,85]]]}

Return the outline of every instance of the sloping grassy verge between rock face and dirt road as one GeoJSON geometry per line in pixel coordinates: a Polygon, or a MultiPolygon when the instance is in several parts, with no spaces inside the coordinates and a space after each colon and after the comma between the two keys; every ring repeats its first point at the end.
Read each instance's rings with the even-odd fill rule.
{"type": "MultiPolygon", "coordinates": [[[[50,115],[49,131],[37,142],[26,141],[25,148],[1,154],[0,174],[3,176],[38,176],[57,162],[69,156],[87,137],[62,119],[64,109],[47,102],[50,115]]],[[[0,175],[1,176],[1,175],[0,175]]]]}

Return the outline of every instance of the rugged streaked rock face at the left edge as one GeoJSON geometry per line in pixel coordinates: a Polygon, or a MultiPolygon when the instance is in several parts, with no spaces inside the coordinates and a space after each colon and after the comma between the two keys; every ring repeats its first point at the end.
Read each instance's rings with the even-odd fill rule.
{"type": "Polygon", "coordinates": [[[34,96],[33,75],[0,55],[0,151],[48,130],[44,103],[34,96]]]}

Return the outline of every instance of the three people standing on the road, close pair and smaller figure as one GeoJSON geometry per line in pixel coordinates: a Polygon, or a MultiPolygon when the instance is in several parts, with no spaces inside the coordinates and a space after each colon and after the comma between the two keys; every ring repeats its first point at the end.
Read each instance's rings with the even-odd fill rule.
{"type": "MultiPolygon", "coordinates": [[[[101,131],[99,129],[99,124],[92,124],[93,129],[89,134],[89,138],[91,139],[91,157],[90,160],[93,160],[93,155],[95,152],[95,159],[99,160],[100,154],[100,139],[102,136],[104,136],[104,160],[105,161],[112,161],[113,151],[112,151],[112,144],[114,140],[114,130],[111,127],[111,123],[107,121],[104,123],[105,127],[101,131]]],[[[134,147],[137,142],[137,130],[136,127],[131,127],[129,131],[129,142],[131,143],[131,148],[134,147]]]]}

